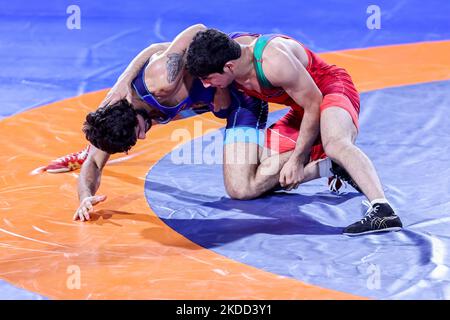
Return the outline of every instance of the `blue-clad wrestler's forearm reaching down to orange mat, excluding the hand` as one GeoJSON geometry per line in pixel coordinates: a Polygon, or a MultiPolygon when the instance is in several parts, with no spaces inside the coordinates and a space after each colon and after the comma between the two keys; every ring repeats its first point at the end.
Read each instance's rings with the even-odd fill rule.
{"type": "Polygon", "coordinates": [[[91,146],[78,177],[78,199],[80,202],[97,192],[100,187],[102,170],[109,156],[108,153],[91,146]]]}

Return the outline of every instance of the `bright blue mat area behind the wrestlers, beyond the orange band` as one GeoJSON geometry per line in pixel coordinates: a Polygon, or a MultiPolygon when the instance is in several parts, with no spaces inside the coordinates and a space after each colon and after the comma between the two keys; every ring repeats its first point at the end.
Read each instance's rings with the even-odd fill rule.
{"type": "Polygon", "coordinates": [[[195,23],[286,33],[317,52],[450,38],[449,1],[377,1],[380,31],[366,27],[372,2],[1,1],[0,116],[111,87],[142,49],[195,23]],[[72,4],[80,30],[66,27],[72,4]]]}

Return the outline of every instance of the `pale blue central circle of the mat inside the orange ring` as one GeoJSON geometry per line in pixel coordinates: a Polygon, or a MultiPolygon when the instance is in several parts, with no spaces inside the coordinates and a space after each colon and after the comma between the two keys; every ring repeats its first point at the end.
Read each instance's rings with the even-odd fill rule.
{"type": "MultiPolygon", "coordinates": [[[[201,159],[196,150],[207,150],[213,134],[180,146],[149,171],[147,201],[195,243],[268,272],[378,299],[450,299],[449,93],[446,81],[361,97],[357,145],[378,169],[401,232],[343,236],[363,217],[365,197],[351,187],[331,194],[325,179],[257,200],[229,199],[221,164],[173,161],[183,150],[192,163],[201,159]]],[[[269,122],[285,112],[271,113],[269,122]]]]}

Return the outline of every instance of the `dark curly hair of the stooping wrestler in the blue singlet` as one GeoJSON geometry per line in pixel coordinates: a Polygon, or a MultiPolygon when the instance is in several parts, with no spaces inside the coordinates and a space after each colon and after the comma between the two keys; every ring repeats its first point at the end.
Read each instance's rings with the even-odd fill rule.
{"type": "Polygon", "coordinates": [[[83,132],[96,148],[109,154],[126,152],[136,144],[137,113],[127,100],[98,108],[86,116],[83,132]]]}

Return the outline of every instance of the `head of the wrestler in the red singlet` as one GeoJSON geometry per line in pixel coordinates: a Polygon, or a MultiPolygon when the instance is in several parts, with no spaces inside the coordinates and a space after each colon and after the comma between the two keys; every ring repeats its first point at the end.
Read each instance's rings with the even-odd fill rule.
{"type": "Polygon", "coordinates": [[[189,72],[199,77],[205,87],[225,88],[233,82],[234,62],[241,56],[241,46],[216,29],[198,32],[187,53],[189,72]]]}

